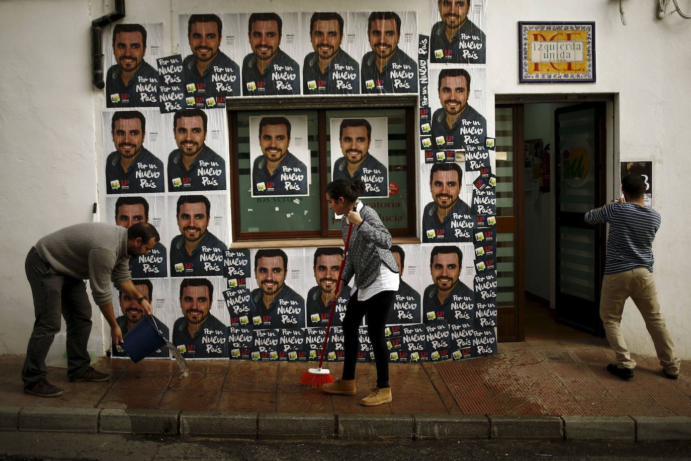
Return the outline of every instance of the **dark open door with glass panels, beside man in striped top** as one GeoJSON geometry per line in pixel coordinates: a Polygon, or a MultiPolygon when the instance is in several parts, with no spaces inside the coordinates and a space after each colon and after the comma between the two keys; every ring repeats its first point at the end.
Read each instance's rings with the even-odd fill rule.
{"type": "Polygon", "coordinates": [[[605,226],[583,215],[605,203],[605,103],[555,111],[556,319],[602,335],[605,226]]]}

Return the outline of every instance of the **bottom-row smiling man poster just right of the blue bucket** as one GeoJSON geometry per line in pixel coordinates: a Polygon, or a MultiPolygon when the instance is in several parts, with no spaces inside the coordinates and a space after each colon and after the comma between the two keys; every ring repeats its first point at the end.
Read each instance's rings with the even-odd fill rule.
{"type": "Polygon", "coordinates": [[[171,342],[185,359],[227,359],[228,312],[222,277],[170,279],[171,342]]]}

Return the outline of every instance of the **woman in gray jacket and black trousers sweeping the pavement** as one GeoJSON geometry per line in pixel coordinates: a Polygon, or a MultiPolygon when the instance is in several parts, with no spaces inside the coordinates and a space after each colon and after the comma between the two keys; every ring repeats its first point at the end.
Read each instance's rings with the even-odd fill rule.
{"type": "MultiPolygon", "coordinates": [[[[391,234],[381,222],[377,211],[358,200],[364,191],[363,182],[338,179],[326,186],[326,201],[336,214],[342,214],[341,233],[343,240],[352,223],[350,248],[345,259],[341,280],[348,283],[355,275],[357,290],[350,295],[348,308],[343,319],[345,339],[345,363],[343,376],[332,384],[321,388],[329,394],[354,395],[355,364],[359,346],[358,328],[362,317],[368,314],[368,335],[375,351],[377,365],[377,387],[361,400],[365,406],[391,402],[391,388],[388,382],[388,353],[384,340],[384,326],[395,292],[398,290],[398,265],[389,248],[391,234]]],[[[338,293],[334,293],[338,297],[338,293]]]]}

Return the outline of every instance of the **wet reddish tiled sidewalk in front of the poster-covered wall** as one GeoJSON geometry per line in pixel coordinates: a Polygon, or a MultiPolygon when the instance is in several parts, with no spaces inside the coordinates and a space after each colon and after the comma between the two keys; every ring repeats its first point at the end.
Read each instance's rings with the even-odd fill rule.
{"type": "MultiPolygon", "coordinates": [[[[359,405],[375,386],[374,364],[358,364],[357,395],[331,396],[300,384],[310,364],[188,361],[183,378],[174,361],[101,359],[103,383],[70,383],[49,368],[61,397],[23,393],[23,356],[0,355],[0,406],[142,408],[173,411],[427,415],[691,415],[691,361],[679,379],[665,379],[655,357],[634,355],[635,377],[624,382],[605,366],[614,354],[604,339],[577,338],[499,344],[499,355],[435,364],[392,364],[393,402],[359,405]]],[[[329,364],[339,377],[341,364],[329,364]]]]}

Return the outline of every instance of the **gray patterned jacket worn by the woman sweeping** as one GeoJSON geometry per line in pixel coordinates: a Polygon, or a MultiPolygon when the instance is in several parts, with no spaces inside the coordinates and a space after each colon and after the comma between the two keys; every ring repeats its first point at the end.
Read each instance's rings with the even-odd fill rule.
{"type": "MultiPolygon", "coordinates": [[[[355,274],[355,284],[359,288],[365,288],[379,276],[382,262],[393,272],[398,272],[398,265],[389,250],[391,234],[381,222],[377,211],[363,205],[359,212],[362,223],[352,227],[341,280],[348,283],[355,274]]],[[[341,234],[345,241],[348,235],[348,218],[345,215],[341,218],[341,234]]]]}

